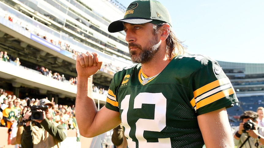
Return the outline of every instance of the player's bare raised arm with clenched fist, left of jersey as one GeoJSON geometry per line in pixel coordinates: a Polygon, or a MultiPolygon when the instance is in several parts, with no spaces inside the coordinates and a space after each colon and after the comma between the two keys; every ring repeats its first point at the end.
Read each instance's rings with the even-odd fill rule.
{"type": "Polygon", "coordinates": [[[76,120],[80,134],[94,137],[107,132],[121,123],[119,112],[102,107],[97,111],[92,97],[92,76],[102,67],[97,53],[82,53],[77,56],[76,120]]]}

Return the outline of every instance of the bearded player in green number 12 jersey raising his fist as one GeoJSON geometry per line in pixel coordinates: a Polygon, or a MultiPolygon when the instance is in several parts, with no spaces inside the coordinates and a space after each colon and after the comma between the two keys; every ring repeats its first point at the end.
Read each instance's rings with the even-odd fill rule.
{"type": "Polygon", "coordinates": [[[157,1],[132,2],[110,32],[125,31],[131,60],[119,70],[99,111],[92,76],[102,67],[97,53],[77,56],[76,119],[80,134],[94,137],[121,121],[128,147],[233,147],[226,107],[238,102],[217,61],[180,56],[167,9],[157,1]]]}

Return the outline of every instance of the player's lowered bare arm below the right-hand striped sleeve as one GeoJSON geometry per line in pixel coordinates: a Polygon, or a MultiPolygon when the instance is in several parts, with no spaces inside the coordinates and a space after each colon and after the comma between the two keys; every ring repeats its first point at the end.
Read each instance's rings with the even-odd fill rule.
{"type": "Polygon", "coordinates": [[[234,148],[225,108],[199,115],[197,118],[206,148],[234,148]]]}

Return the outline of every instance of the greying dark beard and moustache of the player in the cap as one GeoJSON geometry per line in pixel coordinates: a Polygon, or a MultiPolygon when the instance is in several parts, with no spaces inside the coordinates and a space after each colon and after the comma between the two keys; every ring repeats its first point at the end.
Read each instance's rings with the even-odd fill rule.
{"type": "Polygon", "coordinates": [[[150,40],[145,47],[135,43],[128,43],[128,47],[136,47],[138,50],[129,51],[133,63],[148,63],[151,61],[160,49],[160,42],[157,41],[157,35],[150,40]]]}

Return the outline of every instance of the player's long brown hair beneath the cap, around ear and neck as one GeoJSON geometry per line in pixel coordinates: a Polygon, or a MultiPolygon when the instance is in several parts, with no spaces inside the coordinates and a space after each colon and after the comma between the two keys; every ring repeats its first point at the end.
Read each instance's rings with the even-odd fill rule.
{"type": "MultiPolygon", "coordinates": [[[[164,24],[165,23],[153,24],[153,34],[158,34],[160,27],[164,24]]],[[[172,30],[170,30],[169,36],[166,41],[167,41],[166,53],[170,60],[173,57],[184,53],[183,46],[181,45],[181,43],[183,42],[181,42],[178,38],[176,38],[172,30]]]]}

